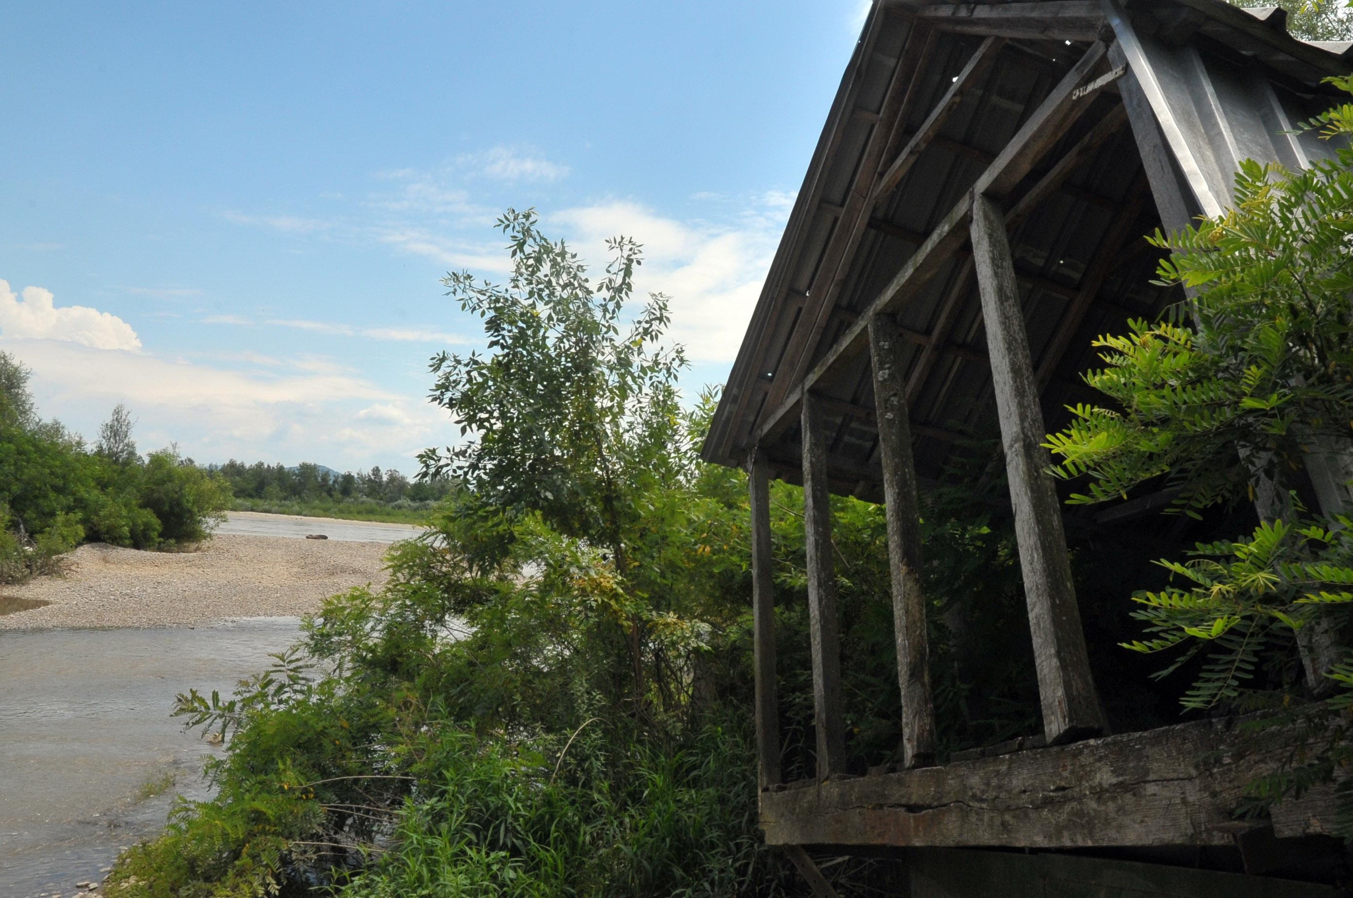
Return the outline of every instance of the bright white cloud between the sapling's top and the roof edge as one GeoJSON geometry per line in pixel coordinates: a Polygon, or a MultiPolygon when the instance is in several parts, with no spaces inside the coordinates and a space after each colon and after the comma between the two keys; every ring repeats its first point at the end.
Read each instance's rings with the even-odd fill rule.
{"type": "Polygon", "coordinates": [[[603,241],[632,237],[644,245],[636,295],[670,296],[671,337],[685,344],[693,361],[728,362],[760,295],[779,241],[787,206],[785,195],[756,197],[731,224],[682,222],[639,203],[613,200],[549,216],[597,266],[603,241]]]}

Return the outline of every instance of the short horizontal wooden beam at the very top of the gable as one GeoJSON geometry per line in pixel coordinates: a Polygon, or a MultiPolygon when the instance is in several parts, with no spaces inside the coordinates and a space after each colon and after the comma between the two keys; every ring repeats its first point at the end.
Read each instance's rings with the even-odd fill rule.
{"type": "Polygon", "coordinates": [[[1095,41],[1104,27],[1104,8],[1092,1],[936,3],[916,18],[942,31],[988,34],[1011,41],[1095,41]]]}

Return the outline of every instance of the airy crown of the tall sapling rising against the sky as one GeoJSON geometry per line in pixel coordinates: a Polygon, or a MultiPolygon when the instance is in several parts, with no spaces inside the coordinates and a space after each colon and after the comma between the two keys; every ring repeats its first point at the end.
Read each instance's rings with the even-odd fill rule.
{"type": "Polygon", "coordinates": [[[506,285],[469,272],[442,281],[484,322],[491,354],[441,353],[432,399],[471,440],[421,457],[425,473],[452,472],[510,526],[538,514],[560,533],[607,545],[624,564],[640,517],[635,496],[671,477],[668,446],[681,434],[679,346],[663,348],[667,299],[652,295],[621,333],[633,293],[639,243],[616,238],[595,285],[567,245],[536,229],[536,214],[509,210],[506,285]]]}

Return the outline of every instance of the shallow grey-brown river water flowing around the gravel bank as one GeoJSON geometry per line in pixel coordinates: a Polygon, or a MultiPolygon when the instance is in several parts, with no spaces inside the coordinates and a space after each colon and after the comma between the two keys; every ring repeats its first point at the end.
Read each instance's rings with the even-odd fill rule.
{"type": "MultiPolygon", "coordinates": [[[[394,542],[400,525],[231,514],[219,533],[394,542]]],[[[196,628],[0,630],[0,897],[76,891],[164,826],[175,794],[207,797],[219,748],[170,718],[177,692],[227,694],[298,634],[298,618],[196,628]],[[173,786],[143,797],[152,784],[173,786]]]]}

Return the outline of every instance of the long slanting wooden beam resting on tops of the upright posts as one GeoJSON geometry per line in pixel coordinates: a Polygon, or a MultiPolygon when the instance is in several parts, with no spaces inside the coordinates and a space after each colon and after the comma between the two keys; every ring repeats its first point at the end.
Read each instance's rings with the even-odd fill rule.
{"type": "MultiPolygon", "coordinates": [[[[802,395],[838,364],[854,358],[865,349],[869,319],[878,312],[893,311],[904,295],[915,295],[930,277],[950,261],[954,252],[967,239],[965,229],[971,218],[974,193],[1004,196],[1038,164],[1047,147],[1061,139],[1066,128],[1089,105],[1089,97],[1093,93],[1077,93],[1077,89],[1091,78],[1103,58],[1104,45],[1095,43],[1034,110],[1032,115],[1015,133],[1015,137],[977,179],[974,189],[965,193],[954,208],[935,224],[925,242],[916,249],[901,270],[874,298],[861,319],[842,334],[836,344],[827,350],[823,360],[802,379],[789,379],[789,385],[782,388],[787,391],[787,395],[771,394],[766,404],[773,411],[762,419],[754,442],[769,445],[775,435],[783,433],[790,425],[802,395]],[[785,398],[777,403],[777,395],[785,398]]],[[[794,362],[790,361],[790,364],[794,362]]]]}

